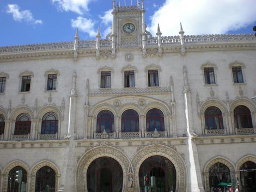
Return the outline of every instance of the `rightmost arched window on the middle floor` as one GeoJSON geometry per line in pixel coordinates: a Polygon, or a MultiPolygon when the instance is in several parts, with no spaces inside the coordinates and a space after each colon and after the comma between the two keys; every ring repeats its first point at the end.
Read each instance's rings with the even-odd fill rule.
{"type": "Polygon", "coordinates": [[[252,128],[252,116],[250,110],[245,106],[237,106],[234,110],[236,128],[252,128]]]}

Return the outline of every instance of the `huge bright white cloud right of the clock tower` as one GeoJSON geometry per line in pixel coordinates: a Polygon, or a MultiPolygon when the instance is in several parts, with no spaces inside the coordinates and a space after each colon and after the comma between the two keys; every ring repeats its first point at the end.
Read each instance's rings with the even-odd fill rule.
{"type": "Polygon", "coordinates": [[[255,0],[166,0],[151,17],[150,32],[157,23],[163,35],[224,34],[256,21],[255,0]]]}

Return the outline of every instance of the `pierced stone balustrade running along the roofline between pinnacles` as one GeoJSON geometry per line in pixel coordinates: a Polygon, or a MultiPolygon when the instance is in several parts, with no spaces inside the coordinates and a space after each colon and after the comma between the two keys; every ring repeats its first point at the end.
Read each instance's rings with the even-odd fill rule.
{"type": "MultiPolygon", "coordinates": [[[[162,36],[163,45],[180,44],[180,36],[162,36]]],[[[185,35],[185,44],[216,43],[216,42],[252,42],[256,41],[254,34],[217,34],[217,35],[185,35]]],[[[157,37],[148,38],[147,45],[157,45],[157,37]]],[[[96,40],[79,41],[79,48],[96,48],[96,40]]],[[[110,39],[101,39],[100,47],[111,47],[110,39]]],[[[48,44],[17,45],[0,47],[0,54],[16,52],[58,51],[74,49],[74,42],[56,42],[48,44]]]]}

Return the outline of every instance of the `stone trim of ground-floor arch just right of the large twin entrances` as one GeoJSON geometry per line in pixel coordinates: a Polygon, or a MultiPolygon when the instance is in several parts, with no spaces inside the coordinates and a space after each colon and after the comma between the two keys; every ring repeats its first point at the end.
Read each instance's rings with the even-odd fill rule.
{"type": "Polygon", "coordinates": [[[231,182],[234,181],[234,172],[235,172],[235,166],[230,162],[230,160],[225,159],[223,157],[216,157],[214,159],[211,159],[206,166],[204,167],[204,184],[205,184],[205,191],[210,192],[210,183],[209,183],[209,169],[212,165],[215,163],[222,163],[226,165],[230,171],[230,179],[231,182]]]}

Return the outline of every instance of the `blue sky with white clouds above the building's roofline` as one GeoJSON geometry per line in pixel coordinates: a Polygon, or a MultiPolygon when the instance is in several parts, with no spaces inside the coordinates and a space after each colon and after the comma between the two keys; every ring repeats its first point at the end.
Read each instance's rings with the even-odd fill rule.
{"type": "MultiPolygon", "coordinates": [[[[139,0],[140,2],[141,0],[139,0]]],[[[137,0],[116,0],[135,5],[137,0]]],[[[146,23],[156,36],[254,33],[255,0],[144,0],[146,23]]],[[[112,0],[0,0],[0,46],[95,39],[110,32],[112,0]]]]}

